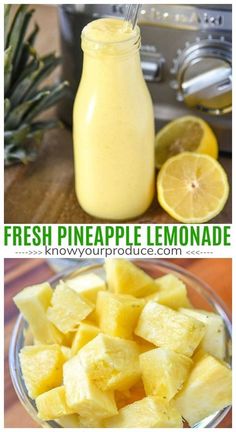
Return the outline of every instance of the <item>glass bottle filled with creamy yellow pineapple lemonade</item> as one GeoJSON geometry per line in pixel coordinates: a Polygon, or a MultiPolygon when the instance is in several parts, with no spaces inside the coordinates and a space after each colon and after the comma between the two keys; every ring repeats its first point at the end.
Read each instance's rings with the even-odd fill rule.
{"type": "Polygon", "coordinates": [[[83,73],[73,112],[76,194],[96,217],[125,220],[154,195],[154,115],[144,81],[140,32],[119,19],[82,32],[83,73]]]}

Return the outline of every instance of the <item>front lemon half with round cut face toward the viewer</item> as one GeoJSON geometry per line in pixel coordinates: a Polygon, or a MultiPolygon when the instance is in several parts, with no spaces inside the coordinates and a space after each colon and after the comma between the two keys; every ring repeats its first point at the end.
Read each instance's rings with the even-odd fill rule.
{"type": "Polygon", "coordinates": [[[174,219],[202,223],[221,212],[229,184],[224,169],[211,156],[184,152],[162,166],[157,193],[161,207],[174,219]]]}

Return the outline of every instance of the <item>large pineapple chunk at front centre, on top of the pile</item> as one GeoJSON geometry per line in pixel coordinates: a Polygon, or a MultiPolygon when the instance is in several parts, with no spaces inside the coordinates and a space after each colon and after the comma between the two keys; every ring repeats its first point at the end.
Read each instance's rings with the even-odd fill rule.
{"type": "Polygon", "coordinates": [[[133,341],[99,334],[78,355],[101,390],[126,390],[141,376],[139,349],[133,341]]]}

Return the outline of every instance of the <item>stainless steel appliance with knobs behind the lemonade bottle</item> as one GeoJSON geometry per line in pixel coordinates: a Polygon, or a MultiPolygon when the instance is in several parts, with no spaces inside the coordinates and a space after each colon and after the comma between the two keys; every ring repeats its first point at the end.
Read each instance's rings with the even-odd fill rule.
{"type": "MultiPolygon", "coordinates": [[[[60,113],[68,124],[82,71],[82,28],[96,18],[121,18],[125,7],[77,4],[59,8],[63,78],[71,83],[60,113]]],[[[199,115],[213,127],[221,150],[231,151],[232,6],[143,5],[138,21],[141,64],[157,129],[176,117],[199,115]]]]}

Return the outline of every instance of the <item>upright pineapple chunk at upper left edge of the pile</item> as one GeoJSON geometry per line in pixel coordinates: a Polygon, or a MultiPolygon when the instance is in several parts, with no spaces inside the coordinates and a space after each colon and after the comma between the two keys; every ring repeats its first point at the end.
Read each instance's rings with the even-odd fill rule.
{"type": "Polygon", "coordinates": [[[61,343],[63,335],[47,319],[47,308],[50,305],[53,290],[49,283],[24,288],[14,298],[14,302],[25,320],[37,343],[61,343]]]}

